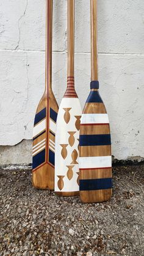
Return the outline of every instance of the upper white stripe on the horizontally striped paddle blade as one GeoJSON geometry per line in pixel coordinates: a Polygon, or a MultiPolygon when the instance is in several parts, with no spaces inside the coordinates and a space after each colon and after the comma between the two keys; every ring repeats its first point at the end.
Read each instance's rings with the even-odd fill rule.
{"type": "Polygon", "coordinates": [[[82,114],[81,123],[109,123],[107,114],[82,114]]]}

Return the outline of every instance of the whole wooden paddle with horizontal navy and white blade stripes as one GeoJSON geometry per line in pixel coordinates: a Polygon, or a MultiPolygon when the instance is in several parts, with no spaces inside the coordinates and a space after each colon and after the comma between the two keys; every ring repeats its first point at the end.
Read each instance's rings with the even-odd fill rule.
{"type": "Polygon", "coordinates": [[[98,89],[97,1],[91,0],[90,94],[81,117],[79,138],[79,190],[82,202],[104,202],[112,194],[110,127],[98,89]]]}

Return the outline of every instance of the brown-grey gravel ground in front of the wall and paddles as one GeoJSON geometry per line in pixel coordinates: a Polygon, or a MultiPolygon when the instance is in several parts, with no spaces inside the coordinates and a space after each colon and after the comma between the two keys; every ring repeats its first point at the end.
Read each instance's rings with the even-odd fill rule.
{"type": "Polygon", "coordinates": [[[0,255],[144,255],[144,166],[113,167],[113,196],[81,203],[0,170],[0,255]]]}

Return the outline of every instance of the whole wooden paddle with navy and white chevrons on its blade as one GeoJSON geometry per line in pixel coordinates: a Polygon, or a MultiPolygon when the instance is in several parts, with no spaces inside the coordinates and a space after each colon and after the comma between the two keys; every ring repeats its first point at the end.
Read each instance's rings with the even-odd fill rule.
{"type": "Polygon", "coordinates": [[[54,152],[58,105],[52,92],[52,0],[46,0],[45,92],[34,120],[32,183],[35,188],[54,189],[54,152]]]}

